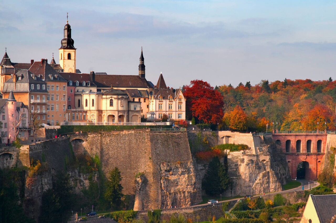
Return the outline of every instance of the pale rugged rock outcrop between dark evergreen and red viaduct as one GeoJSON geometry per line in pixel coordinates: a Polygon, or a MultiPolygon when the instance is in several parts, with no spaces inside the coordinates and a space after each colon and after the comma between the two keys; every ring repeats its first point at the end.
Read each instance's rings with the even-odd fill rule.
{"type": "Polygon", "coordinates": [[[262,194],[281,191],[289,180],[285,155],[275,145],[260,144],[257,154],[230,152],[227,156],[232,187],[224,196],[262,194]]]}

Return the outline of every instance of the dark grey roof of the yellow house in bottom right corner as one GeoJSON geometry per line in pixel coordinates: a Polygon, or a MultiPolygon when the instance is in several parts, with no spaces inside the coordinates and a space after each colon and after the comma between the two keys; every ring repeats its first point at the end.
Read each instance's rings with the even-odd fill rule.
{"type": "Polygon", "coordinates": [[[320,222],[330,222],[336,214],[336,194],[331,195],[309,195],[314,204],[320,222]]]}

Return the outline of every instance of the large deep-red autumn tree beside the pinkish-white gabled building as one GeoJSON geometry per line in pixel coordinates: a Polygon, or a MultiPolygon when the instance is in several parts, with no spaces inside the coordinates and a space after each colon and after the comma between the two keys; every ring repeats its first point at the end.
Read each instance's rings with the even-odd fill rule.
{"type": "Polygon", "coordinates": [[[193,80],[184,88],[187,108],[204,123],[215,124],[223,117],[223,97],[208,82],[193,80]]]}

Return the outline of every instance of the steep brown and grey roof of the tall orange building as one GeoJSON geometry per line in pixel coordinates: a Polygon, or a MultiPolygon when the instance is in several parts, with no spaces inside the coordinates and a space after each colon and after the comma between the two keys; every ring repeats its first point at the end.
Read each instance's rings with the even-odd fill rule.
{"type": "Polygon", "coordinates": [[[58,72],[51,67],[46,60],[36,61],[29,68],[29,71],[35,75],[41,75],[42,79],[45,81],[63,81],[67,82],[58,72]],[[51,80],[51,77],[53,79],[51,80]]]}

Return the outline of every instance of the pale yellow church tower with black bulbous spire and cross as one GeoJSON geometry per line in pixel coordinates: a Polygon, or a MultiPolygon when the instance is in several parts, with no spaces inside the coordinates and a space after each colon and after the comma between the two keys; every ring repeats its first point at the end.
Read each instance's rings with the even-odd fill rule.
{"type": "Polygon", "coordinates": [[[76,48],[74,47],[74,40],[71,39],[71,27],[68,23],[64,26],[64,38],[61,40],[61,47],[59,48],[59,65],[64,72],[76,73],[76,48]]]}

